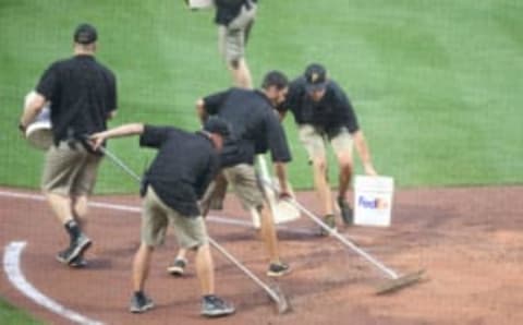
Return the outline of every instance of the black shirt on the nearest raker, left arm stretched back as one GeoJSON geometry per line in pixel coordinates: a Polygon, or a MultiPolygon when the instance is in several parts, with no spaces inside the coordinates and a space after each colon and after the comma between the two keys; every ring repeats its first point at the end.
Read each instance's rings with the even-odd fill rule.
{"type": "Polygon", "coordinates": [[[210,140],[203,133],[145,125],[139,145],[158,149],[144,181],[172,209],[187,217],[199,216],[197,201],[219,170],[210,140]]]}

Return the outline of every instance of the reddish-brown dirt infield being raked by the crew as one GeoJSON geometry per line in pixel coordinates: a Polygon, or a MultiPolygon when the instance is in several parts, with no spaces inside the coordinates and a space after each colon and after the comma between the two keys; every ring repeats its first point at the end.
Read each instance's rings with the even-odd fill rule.
{"type": "MultiPolygon", "coordinates": [[[[35,193],[0,192],[0,244],[27,243],[21,255],[25,278],[66,309],[105,324],[523,324],[523,186],[403,190],[394,197],[392,227],[343,229],[399,272],[427,269],[427,281],[390,296],[374,296],[381,275],[335,239],[317,237],[306,217],[279,231],[292,273],[278,284],[292,313],[276,314],[265,292],[215,251],[217,292],[238,308],[234,316],[215,321],[198,316],[192,260],[185,278],[166,273],[175,251],[172,237],[157,251],[147,284],[157,309],[141,315],[127,312],[139,228],[133,208],[90,209],[90,265],[75,270],[54,261],[66,237],[45,203],[5,194],[35,193]]],[[[264,246],[231,197],[223,212],[212,214],[227,219],[210,218],[209,233],[266,279],[264,246]]],[[[311,193],[301,193],[299,200],[316,207],[311,193]]],[[[94,201],[139,205],[135,196],[94,201]]],[[[5,267],[0,279],[0,296],[13,304],[49,323],[71,324],[22,294],[8,280],[5,267]]]]}

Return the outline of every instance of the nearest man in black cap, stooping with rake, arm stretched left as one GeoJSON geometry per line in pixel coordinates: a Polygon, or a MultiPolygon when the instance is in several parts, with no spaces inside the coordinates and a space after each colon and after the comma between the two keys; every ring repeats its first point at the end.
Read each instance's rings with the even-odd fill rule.
{"type": "Polygon", "coordinates": [[[169,222],[174,227],[179,245],[196,251],[196,269],[203,293],[202,315],[212,317],[234,312],[232,305],[214,294],[212,257],[197,205],[219,169],[218,153],[229,133],[229,125],[214,118],[196,134],[175,128],[134,123],[92,135],[94,148],[110,137],[141,135],[141,146],[158,149],[143,179],[142,243],[133,263],[131,312],[142,313],[154,306],[144,286],[151,254],[163,242],[169,222]]]}

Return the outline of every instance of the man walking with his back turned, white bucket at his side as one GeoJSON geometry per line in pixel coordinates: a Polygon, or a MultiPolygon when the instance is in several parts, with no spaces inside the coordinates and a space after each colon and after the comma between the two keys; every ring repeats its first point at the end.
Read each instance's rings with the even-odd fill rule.
{"type": "Polygon", "coordinates": [[[50,101],[53,145],[46,154],[41,188],[53,213],[64,225],[71,242],[57,258],[70,266],[83,266],[83,253],[92,241],[81,229],[87,214],[100,156],[83,136],[106,130],[117,109],[114,74],[95,59],[98,34],[94,26],[76,27],[74,56],[52,63],[42,74],[36,96],[21,118],[22,131],[50,101]]]}

